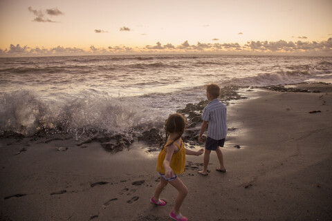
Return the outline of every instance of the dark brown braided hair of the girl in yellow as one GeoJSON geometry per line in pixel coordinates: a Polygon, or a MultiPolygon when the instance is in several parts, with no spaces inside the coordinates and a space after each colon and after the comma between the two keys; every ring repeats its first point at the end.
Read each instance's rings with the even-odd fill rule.
{"type": "Polygon", "coordinates": [[[185,117],[183,117],[183,115],[181,115],[180,113],[174,113],[172,115],[169,115],[168,119],[165,122],[165,132],[166,139],[164,146],[166,145],[170,133],[178,133],[178,137],[176,137],[172,142],[167,144],[167,146],[170,146],[176,140],[180,139],[185,132],[185,117]]]}

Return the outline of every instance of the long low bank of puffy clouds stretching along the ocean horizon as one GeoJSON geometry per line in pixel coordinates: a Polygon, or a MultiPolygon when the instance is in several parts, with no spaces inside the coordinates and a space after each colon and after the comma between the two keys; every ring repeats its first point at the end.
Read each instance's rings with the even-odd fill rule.
{"type": "Polygon", "coordinates": [[[91,45],[88,50],[82,48],[29,48],[10,44],[9,48],[0,49],[0,57],[23,57],[23,56],[58,56],[58,55],[113,55],[132,53],[246,53],[263,55],[331,55],[332,37],[326,41],[248,41],[245,45],[239,43],[210,44],[197,42],[190,45],[184,41],[178,46],[173,44],[161,44],[158,41],[154,46],[147,45],[144,48],[131,48],[128,46],[109,46],[108,48],[96,48],[91,45]]]}

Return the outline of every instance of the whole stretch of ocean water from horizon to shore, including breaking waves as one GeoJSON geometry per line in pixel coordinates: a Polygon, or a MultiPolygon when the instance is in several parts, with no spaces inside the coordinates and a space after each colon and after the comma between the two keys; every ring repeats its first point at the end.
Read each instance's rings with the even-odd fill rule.
{"type": "Polygon", "coordinates": [[[0,134],[161,127],[205,99],[205,84],[331,81],[332,57],[121,55],[0,58],[0,134]]]}

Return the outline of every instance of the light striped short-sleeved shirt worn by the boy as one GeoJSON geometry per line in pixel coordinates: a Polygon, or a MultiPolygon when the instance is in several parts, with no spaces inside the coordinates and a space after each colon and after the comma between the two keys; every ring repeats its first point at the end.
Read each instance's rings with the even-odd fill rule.
{"type": "Polygon", "coordinates": [[[208,137],[214,140],[222,140],[227,135],[226,106],[213,99],[203,110],[202,119],[208,122],[208,137]]]}

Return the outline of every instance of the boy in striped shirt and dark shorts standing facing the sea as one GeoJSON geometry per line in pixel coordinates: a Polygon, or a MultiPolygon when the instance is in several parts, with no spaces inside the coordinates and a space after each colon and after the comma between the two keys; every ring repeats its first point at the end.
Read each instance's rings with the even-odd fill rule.
{"type": "Polygon", "coordinates": [[[219,146],[223,147],[225,143],[225,137],[227,135],[227,124],[226,124],[226,106],[219,102],[220,88],[216,84],[208,84],[206,86],[206,97],[210,102],[205,106],[203,110],[203,124],[199,133],[199,142],[203,142],[202,135],[208,127],[208,137],[205,142],[204,152],[204,167],[203,171],[199,171],[201,175],[208,175],[208,164],[210,161],[211,151],[216,151],[216,155],[219,160],[219,168],[216,171],[225,173],[226,169],[223,165],[223,153],[219,146]]]}

